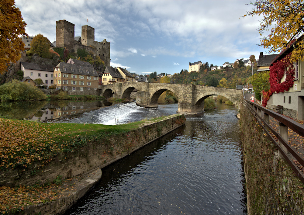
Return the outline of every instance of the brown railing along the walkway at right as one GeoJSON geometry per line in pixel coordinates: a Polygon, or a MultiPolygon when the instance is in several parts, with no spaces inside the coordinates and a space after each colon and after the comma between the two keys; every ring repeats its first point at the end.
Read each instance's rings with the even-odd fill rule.
{"type": "Polygon", "coordinates": [[[245,94],[243,92],[243,101],[250,112],[254,115],[257,119],[257,122],[261,125],[264,130],[264,133],[268,135],[271,141],[277,146],[278,148],[278,156],[284,157],[285,160],[288,162],[290,167],[293,169],[295,174],[299,177],[299,179],[304,183],[304,177],[301,170],[298,168],[297,165],[292,161],[292,159],[288,156],[287,152],[290,152],[292,156],[301,164],[303,165],[303,157],[288,144],[288,128],[292,129],[297,134],[303,137],[304,127],[300,123],[283,116],[279,113],[276,113],[272,110],[264,108],[263,106],[256,104],[254,102],[250,102],[250,100],[245,98],[245,94]],[[262,117],[262,112],[264,112],[264,117],[262,117]],[[276,132],[270,125],[269,125],[269,116],[273,117],[274,119],[279,121],[279,133],[276,132]],[[263,124],[262,124],[263,122],[263,124]],[[278,142],[272,137],[269,133],[272,132],[277,138],[278,142]]]}

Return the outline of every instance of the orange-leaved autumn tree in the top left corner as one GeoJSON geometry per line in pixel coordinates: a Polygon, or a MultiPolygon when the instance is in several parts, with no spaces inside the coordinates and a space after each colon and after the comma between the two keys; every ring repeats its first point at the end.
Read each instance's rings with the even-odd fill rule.
{"type": "Polygon", "coordinates": [[[8,64],[18,61],[24,50],[19,35],[28,35],[25,33],[26,23],[19,8],[15,7],[15,1],[0,1],[0,19],[0,71],[4,74],[8,64]]]}

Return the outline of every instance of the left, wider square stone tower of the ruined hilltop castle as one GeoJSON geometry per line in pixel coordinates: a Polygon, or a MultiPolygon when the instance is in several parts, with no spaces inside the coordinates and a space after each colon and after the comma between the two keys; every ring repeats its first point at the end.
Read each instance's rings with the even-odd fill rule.
{"type": "Polygon", "coordinates": [[[73,49],[75,25],[66,20],[56,21],[56,47],[73,49]]]}

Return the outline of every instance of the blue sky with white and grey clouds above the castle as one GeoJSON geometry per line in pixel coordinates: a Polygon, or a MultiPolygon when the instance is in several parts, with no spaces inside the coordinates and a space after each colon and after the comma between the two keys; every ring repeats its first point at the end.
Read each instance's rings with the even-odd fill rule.
{"type": "Polygon", "coordinates": [[[111,66],[137,74],[174,74],[189,62],[222,66],[267,50],[258,47],[259,17],[241,16],[250,1],[15,1],[26,33],[56,40],[56,21],[95,28],[111,43],[111,66]]]}

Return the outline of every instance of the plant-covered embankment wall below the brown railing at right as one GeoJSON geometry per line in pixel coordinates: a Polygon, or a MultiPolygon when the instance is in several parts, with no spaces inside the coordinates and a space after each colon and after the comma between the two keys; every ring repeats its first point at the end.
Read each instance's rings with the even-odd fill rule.
{"type": "Polygon", "coordinates": [[[303,214],[302,182],[246,106],[240,111],[248,214],[303,214]]]}

